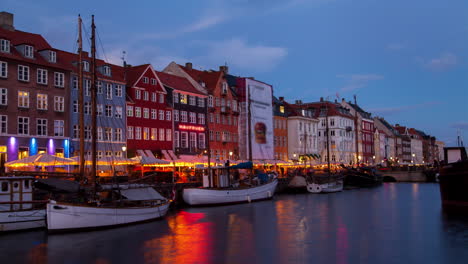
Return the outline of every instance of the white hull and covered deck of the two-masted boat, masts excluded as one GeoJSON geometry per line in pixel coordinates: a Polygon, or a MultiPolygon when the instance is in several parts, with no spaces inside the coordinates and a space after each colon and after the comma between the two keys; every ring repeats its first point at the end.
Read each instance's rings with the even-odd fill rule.
{"type": "Polygon", "coordinates": [[[47,204],[47,229],[68,231],[132,224],[161,218],[170,202],[151,187],[115,191],[122,198],[111,202],[47,204]]]}

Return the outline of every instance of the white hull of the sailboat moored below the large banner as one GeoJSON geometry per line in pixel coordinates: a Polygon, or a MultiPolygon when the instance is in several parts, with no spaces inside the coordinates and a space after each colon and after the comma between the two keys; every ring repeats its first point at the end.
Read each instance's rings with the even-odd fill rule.
{"type": "Polygon", "coordinates": [[[184,189],[183,198],[189,205],[222,205],[246,203],[273,198],[278,180],[257,187],[237,190],[184,189]]]}

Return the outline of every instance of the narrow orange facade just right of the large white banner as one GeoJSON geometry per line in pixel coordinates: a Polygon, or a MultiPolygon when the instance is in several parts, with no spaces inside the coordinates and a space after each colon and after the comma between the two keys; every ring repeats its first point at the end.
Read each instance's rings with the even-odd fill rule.
{"type": "Polygon", "coordinates": [[[273,96],[273,144],[277,161],[288,161],[288,114],[284,97],[273,96]]]}

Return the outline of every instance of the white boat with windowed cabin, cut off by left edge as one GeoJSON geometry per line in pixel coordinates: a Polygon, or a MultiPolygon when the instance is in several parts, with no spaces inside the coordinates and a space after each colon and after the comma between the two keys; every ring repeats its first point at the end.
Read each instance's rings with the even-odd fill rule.
{"type": "Polygon", "coordinates": [[[0,177],[0,232],[45,227],[45,202],[33,200],[33,181],[0,177]]]}

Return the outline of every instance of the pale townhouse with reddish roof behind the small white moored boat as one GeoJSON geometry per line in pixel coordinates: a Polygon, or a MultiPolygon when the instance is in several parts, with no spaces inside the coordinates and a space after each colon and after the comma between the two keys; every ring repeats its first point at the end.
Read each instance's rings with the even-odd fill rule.
{"type": "Polygon", "coordinates": [[[354,117],[348,108],[337,101],[320,98],[319,102],[296,102],[296,107],[308,109],[318,119],[318,151],[322,162],[327,162],[327,120],[329,130],[330,162],[351,164],[356,160],[354,117]]]}

